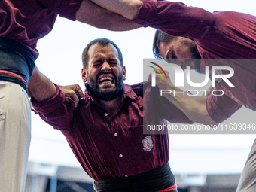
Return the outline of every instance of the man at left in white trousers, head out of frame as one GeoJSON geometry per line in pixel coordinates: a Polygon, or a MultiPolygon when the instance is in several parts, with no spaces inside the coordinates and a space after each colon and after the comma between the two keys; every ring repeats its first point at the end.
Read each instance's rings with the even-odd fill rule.
{"type": "Polygon", "coordinates": [[[0,0],[1,191],[25,187],[31,110],[27,84],[38,57],[37,41],[53,29],[58,15],[111,30],[118,30],[114,15],[114,20],[130,21],[87,0],[0,0]]]}

